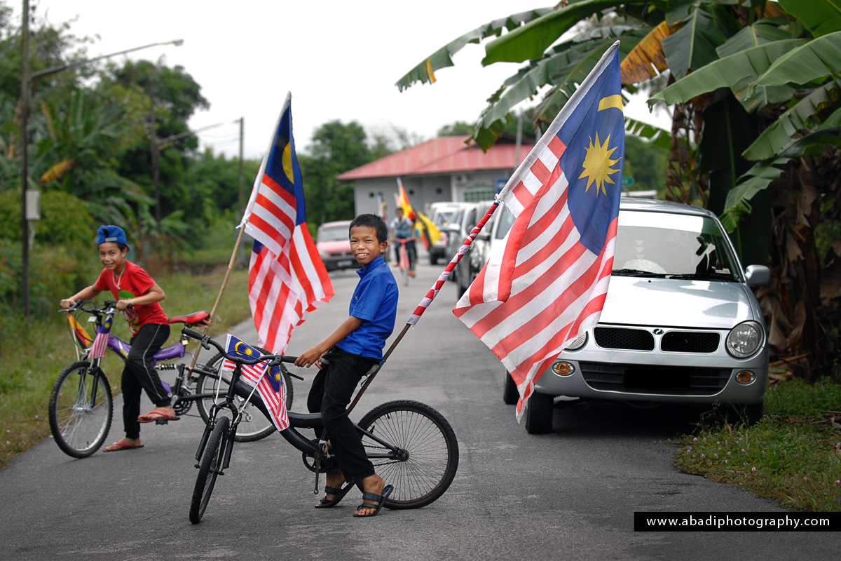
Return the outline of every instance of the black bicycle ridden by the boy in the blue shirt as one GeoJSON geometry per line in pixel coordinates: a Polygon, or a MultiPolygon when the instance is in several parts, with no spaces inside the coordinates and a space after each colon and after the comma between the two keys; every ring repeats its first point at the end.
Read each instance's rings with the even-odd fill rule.
{"type": "MultiPolygon", "coordinates": [[[[210,418],[198,444],[196,465],[198,476],[190,501],[189,519],[197,524],[204,516],[218,476],[230,467],[237,427],[242,420],[241,403],[251,403],[268,418],[268,411],[253,388],[241,381],[243,365],[267,361],[267,369],[281,363],[294,363],[297,357],[267,354],[245,359],[225,354],[225,349],[208,336],[182,329],[185,336],[201,341],[204,348],[216,347],[220,354],[235,363],[225,400],[210,410],[210,418]],[[230,415],[220,415],[226,411],[230,415]]],[[[377,368],[368,373],[365,387],[377,368]]],[[[289,426],[281,436],[301,452],[304,465],[315,473],[315,494],[319,493],[319,474],[338,469],[328,442],[320,413],[288,413],[289,426]],[[322,438],[310,439],[299,429],[313,429],[322,438]]],[[[384,506],[390,509],[421,508],[441,497],[458,470],[458,441],[447,419],[429,405],[418,401],[395,400],[377,405],[355,425],[368,458],[377,473],[394,491],[384,506]]]]}

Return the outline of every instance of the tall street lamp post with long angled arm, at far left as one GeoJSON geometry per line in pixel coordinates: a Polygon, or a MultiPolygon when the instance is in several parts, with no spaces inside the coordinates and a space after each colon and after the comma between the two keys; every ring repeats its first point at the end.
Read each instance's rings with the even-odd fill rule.
{"type": "Polygon", "coordinates": [[[130,52],[134,52],[135,50],[149,49],[151,47],[156,47],[160,45],[181,46],[184,44],[184,40],[173,39],[169,41],[161,41],[159,43],[151,43],[149,45],[142,45],[140,47],[134,47],[133,49],[119,50],[115,53],[110,53],[108,55],[102,55],[94,57],[92,59],[88,59],[87,61],[78,61],[69,64],[62,64],[59,66],[51,66],[50,68],[45,68],[44,70],[32,72],[31,74],[29,74],[29,0],[24,0],[24,18],[21,33],[23,62],[21,64],[20,76],[20,138],[23,144],[23,151],[21,154],[20,178],[23,193],[21,195],[22,216],[20,220],[22,230],[20,236],[20,241],[22,244],[20,253],[20,282],[21,303],[23,304],[24,316],[29,317],[29,220],[27,220],[26,217],[26,190],[29,187],[29,130],[27,125],[29,122],[29,98],[32,95],[32,90],[34,89],[35,84],[37,84],[38,81],[43,77],[50,76],[51,74],[57,74],[61,71],[70,70],[71,68],[78,68],[79,66],[84,66],[90,62],[101,61],[103,59],[110,58],[111,56],[126,55],[130,52]]]}

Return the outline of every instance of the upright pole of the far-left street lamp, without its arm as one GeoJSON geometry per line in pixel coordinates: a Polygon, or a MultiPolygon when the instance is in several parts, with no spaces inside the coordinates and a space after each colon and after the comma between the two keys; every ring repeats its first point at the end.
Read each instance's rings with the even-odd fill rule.
{"type": "Polygon", "coordinates": [[[20,29],[21,50],[23,58],[20,68],[20,144],[21,144],[21,174],[20,174],[20,260],[22,271],[21,282],[21,304],[24,308],[24,317],[29,317],[29,220],[26,220],[26,190],[29,188],[29,0],[24,0],[24,13],[21,19],[20,29]]]}

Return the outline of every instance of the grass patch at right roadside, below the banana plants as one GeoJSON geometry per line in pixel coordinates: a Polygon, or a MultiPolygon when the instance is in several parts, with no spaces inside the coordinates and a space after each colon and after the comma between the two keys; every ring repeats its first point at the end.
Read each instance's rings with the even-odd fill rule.
{"type": "Polygon", "coordinates": [[[795,379],[765,390],[759,424],[702,423],[675,468],[735,484],[791,511],[841,511],[841,385],[795,379]]]}

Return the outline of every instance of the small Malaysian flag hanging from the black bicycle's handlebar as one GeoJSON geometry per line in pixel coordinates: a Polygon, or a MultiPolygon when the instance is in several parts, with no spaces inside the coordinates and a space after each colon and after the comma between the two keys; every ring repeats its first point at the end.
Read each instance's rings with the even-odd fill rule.
{"type": "MultiPolygon", "coordinates": [[[[225,352],[235,357],[248,359],[262,357],[262,352],[230,334],[225,341],[225,352]]],[[[236,368],[236,363],[229,358],[222,361],[222,370],[233,372],[234,368],[236,368]]],[[[260,399],[266,405],[266,409],[271,414],[272,423],[278,431],[287,428],[289,416],[286,410],[286,388],[283,385],[281,369],[275,366],[266,372],[266,363],[243,364],[241,379],[251,388],[257,388],[257,394],[260,394],[260,399]]]]}

